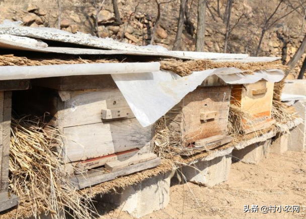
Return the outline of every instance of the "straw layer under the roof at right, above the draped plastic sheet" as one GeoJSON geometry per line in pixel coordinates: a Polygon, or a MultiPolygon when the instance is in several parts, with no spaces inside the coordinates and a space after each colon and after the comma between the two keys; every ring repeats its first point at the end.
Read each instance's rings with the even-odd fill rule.
{"type": "Polygon", "coordinates": [[[180,76],[192,74],[193,71],[204,71],[216,68],[231,68],[235,67],[244,72],[253,73],[257,70],[267,69],[281,69],[285,70],[287,67],[281,64],[281,61],[274,62],[213,62],[211,60],[177,60],[177,59],[164,59],[160,61],[161,69],[172,71],[180,76]]]}

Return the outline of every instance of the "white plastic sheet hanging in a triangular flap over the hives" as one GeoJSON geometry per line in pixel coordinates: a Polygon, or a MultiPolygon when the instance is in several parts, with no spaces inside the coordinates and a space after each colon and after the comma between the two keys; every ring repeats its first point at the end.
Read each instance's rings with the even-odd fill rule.
{"type": "Polygon", "coordinates": [[[228,84],[250,84],[262,79],[278,82],[284,77],[281,70],[245,74],[237,68],[193,72],[185,77],[162,70],[138,74],[113,74],[112,77],[139,123],[146,127],[165,115],[211,75],[217,75],[228,84]]]}

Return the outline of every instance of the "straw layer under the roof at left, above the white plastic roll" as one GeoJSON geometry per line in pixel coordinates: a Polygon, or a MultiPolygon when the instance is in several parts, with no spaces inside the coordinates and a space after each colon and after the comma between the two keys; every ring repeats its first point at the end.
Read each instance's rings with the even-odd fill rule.
{"type": "Polygon", "coordinates": [[[35,59],[27,57],[18,57],[14,55],[0,55],[0,66],[42,66],[42,65],[61,65],[61,64],[89,64],[89,63],[117,63],[117,60],[108,59],[75,59],[66,56],[62,59],[46,58],[35,59]]]}

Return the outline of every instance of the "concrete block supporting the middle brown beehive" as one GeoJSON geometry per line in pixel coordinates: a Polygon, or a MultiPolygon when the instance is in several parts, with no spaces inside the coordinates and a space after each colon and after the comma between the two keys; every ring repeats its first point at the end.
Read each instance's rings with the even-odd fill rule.
{"type": "Polygon", "coordinates": [[[191,166],[184,166],[182,173],[187,181],[211,187],[228,179],[231,164],[232,156],[227,154],[212,160],[199,161],[191,166]]]}

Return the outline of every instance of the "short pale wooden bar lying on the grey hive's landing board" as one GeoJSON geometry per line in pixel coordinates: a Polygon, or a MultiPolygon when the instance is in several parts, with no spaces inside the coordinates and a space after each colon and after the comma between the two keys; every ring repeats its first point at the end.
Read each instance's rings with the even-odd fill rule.
{"type": "Polygon", "coordinates": [[[128,166],[131,166],[133,164],[142,163],[142,162],[156,159],[156,158],[157,158],[157,155],[154,153],[142,154],[138,156],[133,156],[123,161],[116,160],[116,161],[107,162],[105,163],[105,167],[111,171],[114,171],[114,170],[118,170],[118,169],[122,169],[128,166]]]}

